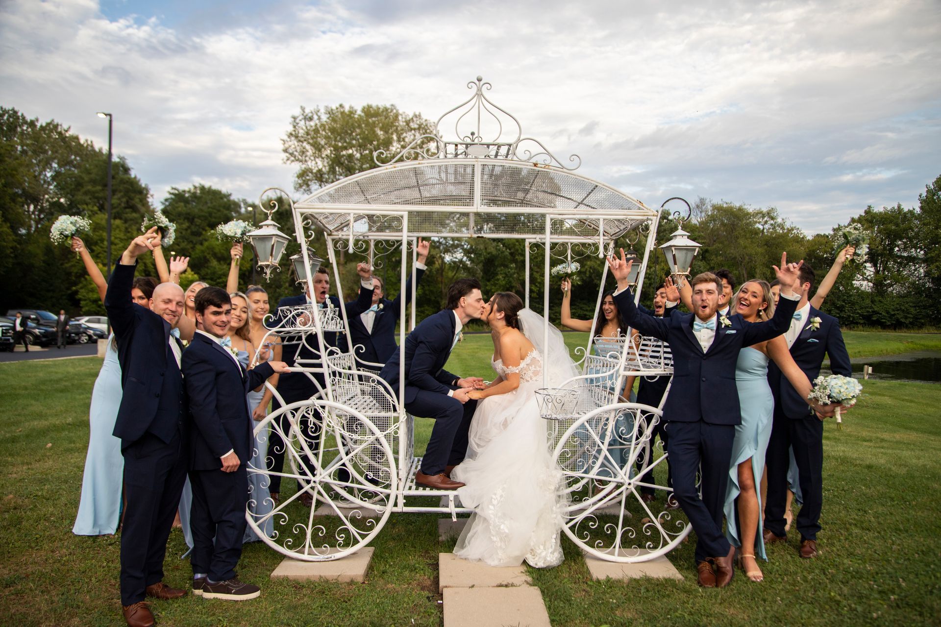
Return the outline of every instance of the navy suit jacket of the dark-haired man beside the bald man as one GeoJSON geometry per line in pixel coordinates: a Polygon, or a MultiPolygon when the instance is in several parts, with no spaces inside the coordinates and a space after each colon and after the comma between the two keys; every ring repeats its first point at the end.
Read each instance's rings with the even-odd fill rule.
{"type": "Polygon", "coordinates": [[[242,463],[251,459],[251,417],[246,394],[274,374],[267,362],[246,370],[226,349],[197,333],[183,353],[183,380],[196,429],[190,445],[190,468],[216,470],[220,458],[235,451],[242,463]]]}

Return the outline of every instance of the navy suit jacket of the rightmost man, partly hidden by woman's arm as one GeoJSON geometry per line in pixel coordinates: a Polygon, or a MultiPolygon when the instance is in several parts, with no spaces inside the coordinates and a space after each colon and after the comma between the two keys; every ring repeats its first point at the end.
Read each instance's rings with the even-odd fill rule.
{"type": "MultiPolygon", "coordinates": [[[[820,309],[810,306],[804,329],[790,347],[790,356],[794,363],[804,371],[812,384],[820,376],[823,356],[830,355],[830,369],[834,374],[844,377],[853,376],[853,365],[850,363],[850,353],[846,351],[843,343],[843,334],[839,330],[839,321],[828,316],[820,309]],[[816,331],[811,330],[810,320],[820,318],[821,325],[816,331]]],[[[811,414],[808,401],[802,399],[790,384],[788,378],[783,376],[781,369],[774,364],[768,365],[768,384],[774,395],[774,406],[789,418],[805,418],[811,414]]]]}

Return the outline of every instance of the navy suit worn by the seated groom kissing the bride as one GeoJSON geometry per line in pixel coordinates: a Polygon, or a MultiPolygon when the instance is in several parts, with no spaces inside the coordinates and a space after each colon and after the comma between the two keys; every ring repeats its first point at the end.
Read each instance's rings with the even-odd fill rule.
{"type": "MultiPolygon", "coordinates": [[[[438,475],[447,465],[464,461],[468,450],[470,418],[476,400],[461,405],[448,396],[457,389],[459,377],[444,369],[455,341],[457,319],[453,309],[444,309],[419,322],[406,337],[405,405],[411,415],[435,418],[431,439],[425,448],[422,472],[438,475]]],[[[392,353],[379,372],[397,395],[399,393],[399,352],[392,353]]]]}

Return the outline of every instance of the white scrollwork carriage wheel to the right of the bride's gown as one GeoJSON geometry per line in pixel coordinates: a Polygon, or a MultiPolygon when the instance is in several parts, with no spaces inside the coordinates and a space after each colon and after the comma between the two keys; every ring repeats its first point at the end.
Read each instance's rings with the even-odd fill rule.
{"type": "Polygon", "coordinates": [[[606,405],[575,420],[559,439],[554,457],[566,495],[563,530],[586,553],[642,562],[665,555],[689,534],[682,512],[666,509],[673,494],[666,452],[659,441],[650,446],[661,415],[648,405],[606,405]],[[642,488],[653,492],[653,501],[645,502],[642,488]]]}

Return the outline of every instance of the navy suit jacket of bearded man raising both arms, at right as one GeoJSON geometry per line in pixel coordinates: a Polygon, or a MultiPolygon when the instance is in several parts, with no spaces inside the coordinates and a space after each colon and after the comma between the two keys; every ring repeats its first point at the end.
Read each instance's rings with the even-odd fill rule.
{"type": "Polygon", "coordinates": [[[630,290],[614,294],[624,320],[645,336],[658,337],[673,352],[673,383],[663,405],[663,419],[676,422],[703,420],[717,425],[742,424],[735,364],[743,347],[777,337],[788,330],[797,301],[781,298],[774,317],[767,322],[746,322],[736,314],[723,325],[715,317],[715,337],[703,352],[693,334],[694,314],[678,311],[668,318],[654,318],[634,305],[630,290]]]}

